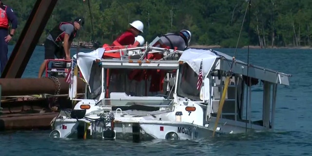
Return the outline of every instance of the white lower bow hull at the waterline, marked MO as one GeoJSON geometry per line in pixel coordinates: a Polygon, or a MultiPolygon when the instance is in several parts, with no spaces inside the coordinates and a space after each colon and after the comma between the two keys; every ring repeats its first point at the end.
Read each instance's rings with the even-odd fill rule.
{"type": "MultiPolygon", "coordinates": [[[[79,125],[88,125],[87,128],[91,135],[87,138],[102,138],[103,128],[95,126],[90,121],[76,119],[56,120],[53,130],[60,133],[60,138],[77,138],[79,136],[79,125]]],[[[110,125],[108,125],[110,126],[110,125]]],[[[133,135],[139,136],[139,140],[152,140],[152,139],[175,139],[170,138],[168,135],[175,133],[179,140],[196,140],[212,136],[212,129],[207,127],[194,125],[184,122],[117,122],[114,125],[116,132],[116,139],[132,140],[133,135]],[[133,127],[139,126],[139,134],[133,131],[133,127]]],[[[81,130],[80,130],[81,131],[81,130]]],[[[217,132],[218,133],[218,132],[217,132]]],[[[81,135],[80,135],[81,136],[81,135]]],[[[52,136],[50,136],[52,137],[52,136]]]]}

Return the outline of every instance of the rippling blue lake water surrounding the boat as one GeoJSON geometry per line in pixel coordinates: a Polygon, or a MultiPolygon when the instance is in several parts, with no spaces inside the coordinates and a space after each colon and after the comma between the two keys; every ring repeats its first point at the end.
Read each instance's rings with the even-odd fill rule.
{"type": "MultiPolygon", "coordinates": [[[[10,47],[10,51],[13,47],[10,47]]],[[[81,49],[88,51],[86,49],[81,49]]],[[[234,49],[215,49],[230,56],[234,49]]],[[[76,48],[72,48],[72,54],[76,48]]],[[[312,51],[250,49],[250,63],[292,74],[290,86],[278,86],[273,133],[225,135],[200,141],[127,141],[50,139],[50,131],[0,133],[0,156],[301,156],[312,155],[312,51]]],[[[36,78],[43,60],[36,47],[23,78],[36,78]]],[[[247,61],[247,49],[236,59],[247,61]]],[[[253,89],[253,117],[260,117],[262,97],[253,89]]]]}

